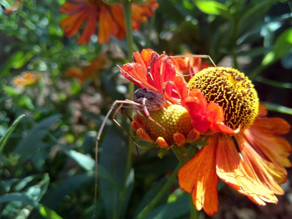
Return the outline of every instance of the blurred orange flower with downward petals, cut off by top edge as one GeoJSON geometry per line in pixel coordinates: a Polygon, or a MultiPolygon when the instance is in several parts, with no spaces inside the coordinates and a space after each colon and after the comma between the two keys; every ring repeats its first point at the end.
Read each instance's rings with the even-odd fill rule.
{"type": "MultiPolygon", "coordinates": [[[[122,4],[107,5],[101,0],[72,0],[74,3],[66,2],[60,9],[61,13],[69,15],[61,22],[67,37],[73,37],[86,23],[80,37],[79,44],[88,44],[91,35],[95,34],[96,24],[98,27],[98,42],[110,41],[110,35],[118,39],[126,36],[126,27],[122,4]]],[[[150,0],[147,4],[136,5],[132,3],[132,28],[138,30],[140,23],[147,22],[147,18],[153,15],[153,10],[158,8],[157,0],[150,0]]]]}

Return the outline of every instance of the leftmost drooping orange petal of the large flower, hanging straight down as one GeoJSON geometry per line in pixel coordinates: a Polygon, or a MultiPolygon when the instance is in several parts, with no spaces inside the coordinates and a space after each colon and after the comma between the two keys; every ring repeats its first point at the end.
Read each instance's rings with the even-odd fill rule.
{"type": "Polygon", "coordinates": [[[208,215],[218,212],[216,144],[203,146],[178,173],[181,189],[192,193],[193,202],[208,215]]]}

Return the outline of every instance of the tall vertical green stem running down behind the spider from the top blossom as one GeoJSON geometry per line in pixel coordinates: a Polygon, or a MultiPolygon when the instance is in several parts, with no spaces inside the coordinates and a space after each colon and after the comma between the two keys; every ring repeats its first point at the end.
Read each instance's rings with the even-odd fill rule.
{"type": "MultiPolygon", "coordinates": [[[[131,1],[124,1],[123,3],[123,9],[124,9],[124,17],[125,17],[125,25],[126,25],[126,37],[128,42],[128,62],[132,61],[132,54],[133,54],[133,35],[132,35],[132,10],[131,10],[131,1]]],[[[132,82],[129,82],[128,84],[128,92],[129,92],[129,98],[132,100],[133,93],[134,93],[134,84],[132,82]]],[[[133,110],[129,110],[129,115],[132,115],[133,110]]],[[[131,126],[129,126],[129,133],[133,135],[133,129],[131,126]]],[[[120,199],[119,199],[119,205],[117,209],[117,215],[115,217],[120,217],[123,204],[125,201],[126,196],[126,182],[127,178],[131,169],[132,165],[132,148],[133,148],[133,140],[129,136],[128,138],[128,157],[127,157],[127,164],[126,164],[126,172],[125,172],[125,180],[124,180],[124,186],[122,191],[120,192],[120,199]]]]}

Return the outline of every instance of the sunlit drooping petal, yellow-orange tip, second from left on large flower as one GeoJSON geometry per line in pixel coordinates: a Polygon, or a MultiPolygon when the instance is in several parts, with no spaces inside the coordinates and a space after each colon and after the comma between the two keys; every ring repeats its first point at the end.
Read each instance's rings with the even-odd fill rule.
{"type": "MultiPolygon", "coordinates": [[[[214,137],[210,137],[216,141],[214,137]]],[[[209,138],[209,139],[210,139],[209,138]]],[[[274,192],[257,183],[251,170],[241,160],[233,141],[228,136],[218,139],[216,170],[219,178],[239,193],[259,205],[266,202],[276,203],[274,192]]]]}

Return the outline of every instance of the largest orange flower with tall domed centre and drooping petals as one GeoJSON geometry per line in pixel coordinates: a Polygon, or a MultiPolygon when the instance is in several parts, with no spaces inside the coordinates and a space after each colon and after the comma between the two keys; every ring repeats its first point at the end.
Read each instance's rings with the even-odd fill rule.
{"type": "Polygon", "coordinates": [[[253,85],[243,73],[234,69],[219,68],[218,71],[208,68],[196,74],[188,86],[191,90],[186,95],[186,85],[175,80],[176,90],[190,114],[194,128],[205,131],[211,124],[210,129],[216,132],[208,132],[211,134],[207,140],[210,144],[203,146],[179,170],[181,189],[191,193],[196,208],[204,209],[210,216],[218,212],[218,178],[256,204],[276,203],[275,194],[284,194],[278,183],[286,182],[285,167],[291,166],[287,158],[291,146],[280,136],[289,132],[290,125],[280,118],[266,118],[266,108],[258,105],[253,85]],[[198,115],[208,112],[208,107],[193,108],[200,99],[198,96],[196,98],[196,88],[203,91],[209,104],[216,102],[222,107],[214,107],[210,116],[205,116],[209,122],[206,127],[197,126],[196,123],[198,115]],[[221,109],[224,110],[223,117],[221,109]],[[256,114],[262,118],[256,117],[256,114]],[[223,120],[231,128],[241,128],[240,132],[227,134],[224,128],[220,128],[223,120]],[[212,123],[215,124],[213,128],[212,123]]]}

